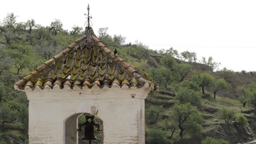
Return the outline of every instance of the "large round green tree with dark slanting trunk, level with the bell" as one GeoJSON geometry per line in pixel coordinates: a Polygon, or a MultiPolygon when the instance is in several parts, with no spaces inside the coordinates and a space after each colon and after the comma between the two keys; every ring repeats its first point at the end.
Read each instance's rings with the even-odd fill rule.
{"type": "Polygon", "coordinates": [[[202,116],[196,107],[190,103],[176,103],[172,107],[172,118],[180,130],[179,136],[181,138],[183,138],[184,130],[190,132],[191,135],[201,134],[202,116]]]}

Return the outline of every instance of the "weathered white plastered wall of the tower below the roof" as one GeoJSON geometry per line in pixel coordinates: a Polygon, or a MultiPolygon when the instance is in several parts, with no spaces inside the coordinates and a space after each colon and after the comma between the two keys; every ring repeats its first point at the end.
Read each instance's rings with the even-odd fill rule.
{"type": "Polygon", "coordinates": [[[27,90],[30,144],[78,143],[77,118],[85,112],[102,119],[104,143],[144,144],[148,92],[144,87],[27,90]]]}

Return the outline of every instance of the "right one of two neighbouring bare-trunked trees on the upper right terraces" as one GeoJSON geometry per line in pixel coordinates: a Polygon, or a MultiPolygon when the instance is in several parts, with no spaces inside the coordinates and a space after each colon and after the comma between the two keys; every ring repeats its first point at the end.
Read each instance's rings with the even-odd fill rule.
{"type": "Polygon", "coordinates": [[[230,87],[229,83],[226,82],[224,79],[218,79],[213,83],[212,91],[214,94],[214,99],[216,99],[216,94],[219,91],[224,91],[230,87]]]}

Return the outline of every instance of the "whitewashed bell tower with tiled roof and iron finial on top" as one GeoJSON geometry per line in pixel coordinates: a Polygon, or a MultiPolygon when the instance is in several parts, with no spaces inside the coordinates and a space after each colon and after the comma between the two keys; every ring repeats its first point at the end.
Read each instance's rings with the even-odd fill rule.
{"type": "Polygon", "coordinates": [[[82,127],[101,131],[104,144],[145,143],[144,99],[156,83],[97,39],[89,9],[85,34],[14,85],[29,100],[30,144],[78,143],[83,113],[102,119],[82,127]]]}

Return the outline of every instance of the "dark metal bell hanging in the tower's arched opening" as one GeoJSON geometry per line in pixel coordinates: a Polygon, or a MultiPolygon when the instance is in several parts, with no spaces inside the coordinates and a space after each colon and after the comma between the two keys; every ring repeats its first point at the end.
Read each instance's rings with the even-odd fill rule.
{"type": "Polygon", "coordinates": [[[85,116],[86,122],[82,125],[79,125],[78,131],[82,131],[81,127],[84,125],[84,135],[82,136],[81,140],[97,140],[97,137],[94,134],[94,126],[97,127],[97,131],[101,131],[100,124],[94,122],[94,116],[85,116]],[[88,119],[91,119],[89,122],[88,119]]]}

